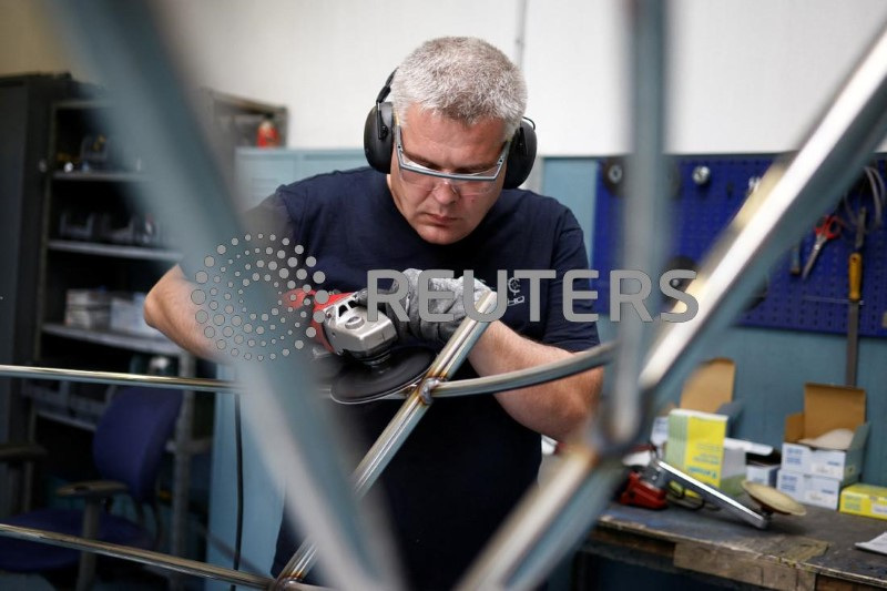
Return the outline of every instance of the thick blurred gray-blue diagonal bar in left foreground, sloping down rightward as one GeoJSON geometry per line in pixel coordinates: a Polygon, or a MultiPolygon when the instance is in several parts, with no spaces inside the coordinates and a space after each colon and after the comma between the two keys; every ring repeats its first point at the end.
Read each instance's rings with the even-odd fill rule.
{"type": "MultiPolygon", "coordinates": [[[[204,129],[191,110],[181,72],[175,70],[156,29],[155,3],[132,0],[55,0],[53,16],[72,33],[74,50],[111,89],[113,109],[106,110],[115,135],[131,141],[142,156],[151,182],[135,188],[152,204],[161,225],[176,236],[180,251],[196,255],[216,252],[225,241],[245,236],[235,198],[204,129]]],[[[227,166],[230,169],[230,165],[227,166]]],[[[221,272],[223,282],[236,277],[221,272]]],[[[269,285],[258,284],[243,294],[243,306],[269,310],[277,297],[269,285]]],[[[379,550],[385,529],[370,532],[340,469],[341,449],[333,417],[319,397],[305,395],[316,387],[307,361],[294,356],[287,363],[259,364],[244,356],[232,358],[238,379],[251,393],[247,418],[264,422],[258,438],[268,468],[296,496],[287,496],[288,514],[299,520],[329,562],[333,584],[343,589],[399,589],[397,570],[379,550]],[[293,393],[299,396],[293,396],[293,393]],[[323,441],[323,445],[317,445],[323,441]]]]}

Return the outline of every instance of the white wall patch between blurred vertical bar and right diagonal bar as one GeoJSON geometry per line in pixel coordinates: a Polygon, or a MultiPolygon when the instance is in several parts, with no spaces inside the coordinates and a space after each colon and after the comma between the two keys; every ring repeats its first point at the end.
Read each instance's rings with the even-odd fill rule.
{"type": "Polygon", "coordinates": [[[792,149],[884,27],[874,0],[679,0],[672,29],[676,152],[792,149]]]}

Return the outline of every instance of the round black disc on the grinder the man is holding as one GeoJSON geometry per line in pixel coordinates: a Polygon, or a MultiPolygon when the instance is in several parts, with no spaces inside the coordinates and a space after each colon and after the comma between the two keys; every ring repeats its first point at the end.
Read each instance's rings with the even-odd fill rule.
{"type": "Polygon", "coordinates": [[[351,361],[333,378],[330,396],[344,405],[377,400],[419,379],[434,358],[430,349],[414,347],[394,350],[376,366],[351,361]]]}

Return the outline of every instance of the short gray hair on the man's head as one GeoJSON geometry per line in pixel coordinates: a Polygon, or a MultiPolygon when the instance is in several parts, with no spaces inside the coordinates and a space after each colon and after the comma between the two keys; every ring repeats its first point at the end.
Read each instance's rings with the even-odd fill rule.
{"type": "Polygon", "coordinates": [[[488,42],[442,37],[419,45],[398,67],[391,103],[400,124],[416,104],[466,125],[501,120],[510,137],[527,109],[527,83],[518,67],[488,42]]]}

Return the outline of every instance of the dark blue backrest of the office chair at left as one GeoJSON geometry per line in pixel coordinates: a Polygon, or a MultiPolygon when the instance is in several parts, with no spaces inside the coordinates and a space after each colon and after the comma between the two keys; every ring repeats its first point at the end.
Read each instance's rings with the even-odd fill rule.
{"type": "Polygon", "coordinates": [[[99,420],[92,444],[102,478],[124,482],[137,502],[153,501],[163,450],[181,405],[179,390],[141,386],[119,390],[99,420]]]}

